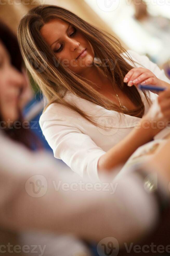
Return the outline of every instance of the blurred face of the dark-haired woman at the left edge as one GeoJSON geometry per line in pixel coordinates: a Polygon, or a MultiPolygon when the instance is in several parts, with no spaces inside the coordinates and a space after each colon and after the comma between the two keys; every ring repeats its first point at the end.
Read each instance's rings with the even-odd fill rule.
{"type": "Polygon", "coordinates": [[[19,118],[18,103],[24,77],[11,65],[10,55],[0,41],[0,114],[3,121],[19,118]]]}

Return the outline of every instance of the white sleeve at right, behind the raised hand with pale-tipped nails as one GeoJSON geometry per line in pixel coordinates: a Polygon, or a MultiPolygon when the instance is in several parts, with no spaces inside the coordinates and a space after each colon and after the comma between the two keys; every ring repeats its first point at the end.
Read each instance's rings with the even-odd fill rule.
{"type": "MultiPolygon", "coordinates": [[[[151,60],[149,60],[149,58],[146,55],[140,55],[139,53],[136,53],[133,50],[127,50],[127,52],[129,53],[129,55],[132,57],[134,61],[139,62],[142,66],[152,71],[157,78],[170,84],[170,80],[165,75],[164,69],[160,69],[158,65],[152,62],[151,60]]],[[[137,67],[141,66],[137,63],[135,63],[135,65],[137,67]]]]}

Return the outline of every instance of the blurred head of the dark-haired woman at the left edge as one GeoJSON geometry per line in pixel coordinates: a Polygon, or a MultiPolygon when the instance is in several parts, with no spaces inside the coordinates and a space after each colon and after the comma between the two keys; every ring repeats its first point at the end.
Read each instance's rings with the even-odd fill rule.
{"type": "Polygon", "coordinates": [[[23,64],[17,37],[0,21],[0,130],[29,149],[39,148],[37,137],[23,123],[28,92],[23,64]]]}

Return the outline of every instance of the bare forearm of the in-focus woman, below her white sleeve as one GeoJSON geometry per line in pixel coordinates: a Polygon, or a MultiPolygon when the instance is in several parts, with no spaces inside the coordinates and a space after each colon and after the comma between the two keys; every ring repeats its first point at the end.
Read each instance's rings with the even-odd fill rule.
{"type": "Polygon", "coordinates": [[[100,157],[98,171],[112,171],[115,166],[125,163],[138,147],[152,140],[154,132],[151,123],[142,118],[138,127],[100,157]]]}

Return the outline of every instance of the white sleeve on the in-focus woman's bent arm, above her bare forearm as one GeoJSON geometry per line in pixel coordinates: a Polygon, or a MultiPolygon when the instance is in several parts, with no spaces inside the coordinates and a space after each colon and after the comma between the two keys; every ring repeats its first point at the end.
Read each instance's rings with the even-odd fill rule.
{"type": "Polygon", "coordinates": [[[81,177],[99,179],[97,163],[106,152],[88,135],[75,127],[71,120],[55,113],[43,113],[39,123],[55,158],[62,159],[81,177]]]}

